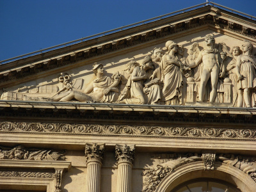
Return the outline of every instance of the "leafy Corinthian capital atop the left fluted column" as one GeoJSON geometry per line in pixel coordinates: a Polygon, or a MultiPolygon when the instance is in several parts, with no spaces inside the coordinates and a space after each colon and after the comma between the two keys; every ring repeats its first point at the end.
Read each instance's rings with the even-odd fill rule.
{"type": "Polygon", "coordinates": [[[97,144],[97,143],[86,143],[85,144],[85,157],[87,163],[89,161],[99,161],[102,163],[103,154],[104,154],[104,145],[105,144],[97,144]]]}

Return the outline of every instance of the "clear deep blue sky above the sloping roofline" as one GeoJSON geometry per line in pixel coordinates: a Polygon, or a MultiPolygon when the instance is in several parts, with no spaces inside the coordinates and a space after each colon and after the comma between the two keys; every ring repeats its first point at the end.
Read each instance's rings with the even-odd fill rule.
{"type": "MultiPolygon", "coordinates": [[[[38,51],[206,1],[0,0],[0,60],[38,51]]],[[[256,16],[256,1],[213,1],[256,16]]]]}

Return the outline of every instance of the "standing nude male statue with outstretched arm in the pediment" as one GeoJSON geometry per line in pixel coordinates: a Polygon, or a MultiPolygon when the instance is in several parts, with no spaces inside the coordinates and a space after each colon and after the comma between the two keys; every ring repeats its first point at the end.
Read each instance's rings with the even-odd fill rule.
{"type": "Polygon", "coordinates": [[[216,85],[218,83],[218,77],[225,75],[225,65],[221,65],[225,60],[225,53],[218,52],[218,49],[214,49],[215,39],[212,35],[205,36],[206,49],[203,49],[196,61],[189,65],[190,68],[194,68],[202,62],[203,70],[200,77],[200,88],[198,101],[203,102],[205,96],[205,86],[207,81],[211,77],[211,93],[209,102],[213,102],[216,96],[216,85]],[[220,69],[221,65],[221,69],[220,69]],[[219,74],[220,72],[220,74],[219,74]]]}

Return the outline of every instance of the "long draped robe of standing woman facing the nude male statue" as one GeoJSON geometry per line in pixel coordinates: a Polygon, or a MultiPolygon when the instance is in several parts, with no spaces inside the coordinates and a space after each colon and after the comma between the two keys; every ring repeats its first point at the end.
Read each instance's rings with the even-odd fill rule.
{"type": "Polygon", "coordinates": [[[179,60],[177,58],[170,60],[168,55],[164,55],[160,63],[164,83],[162,100],[168,101],[177,96],[179,97],[180,104],[182,97],[182,72],[180,67],[173,64],[173,61],[179,60]]]}

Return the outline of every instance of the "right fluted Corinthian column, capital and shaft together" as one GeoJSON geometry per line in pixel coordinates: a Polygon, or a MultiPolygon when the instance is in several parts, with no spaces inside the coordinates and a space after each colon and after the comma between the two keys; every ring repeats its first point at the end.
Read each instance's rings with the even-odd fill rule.
{"type": "Polygon", "coordinates": [[[134,151],[134,145],[116,145],[116,161],[118,167],[117,192],[131,192],[134,151]]]}

